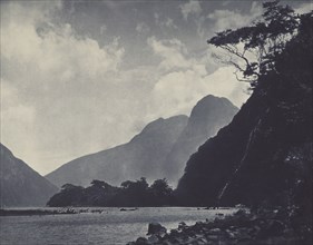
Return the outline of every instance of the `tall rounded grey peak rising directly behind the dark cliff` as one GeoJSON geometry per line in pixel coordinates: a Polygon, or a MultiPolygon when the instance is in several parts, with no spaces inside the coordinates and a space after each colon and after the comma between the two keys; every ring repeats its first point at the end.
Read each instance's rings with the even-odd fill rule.
{"type": "Polygon", "coordinates": [[[190,155],[209,137],[229,124],[238,109],[226,98],[212,95],[200,99],[193,108],[188,125],[177,139],[165,163],[165,177],[177,184],[190,155]]]}

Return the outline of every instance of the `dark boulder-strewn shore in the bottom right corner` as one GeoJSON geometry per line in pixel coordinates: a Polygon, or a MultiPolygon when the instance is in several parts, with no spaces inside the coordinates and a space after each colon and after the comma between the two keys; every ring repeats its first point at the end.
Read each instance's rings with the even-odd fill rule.
{"type": "Polygon", "coordinates": [[[148,237],[127,245],[309,245],[312,222],[307,220],[303,220],[302,212],[296,208],[239,209],[213,222],[197,222],[193,226],[180,223],[170,232],[160,224],[150,224],[148,237]]]}

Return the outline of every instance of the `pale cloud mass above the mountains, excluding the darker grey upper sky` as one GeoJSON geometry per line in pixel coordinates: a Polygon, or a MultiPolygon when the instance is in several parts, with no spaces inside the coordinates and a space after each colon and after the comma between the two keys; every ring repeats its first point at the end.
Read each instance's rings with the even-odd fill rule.
{"type": "MultiPolygon", "coordinates": [[[[127,50],[109,41],[110,29],[97,26],[110,38],[101,46],[50,18],[59,2],[36,3],[1,6],[1,141],[40,173],[125,143],[157,117],[187,114],[207,94],[245,98],[231,71],[209,75],[216,65],[207,53],[190,55],[177,38],[150,37],[147,59],[159,63],[123,70],[127,50]]],[[[198,2],[186,4],[186,18],[200,12],[198,2]]]]}

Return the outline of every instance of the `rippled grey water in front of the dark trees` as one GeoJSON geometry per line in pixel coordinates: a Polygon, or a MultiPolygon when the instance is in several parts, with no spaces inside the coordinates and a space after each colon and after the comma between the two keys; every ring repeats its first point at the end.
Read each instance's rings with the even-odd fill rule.
{"type": "Polygon", "coordinates": [[[179,222],[192,225],[197,220],[214,219],[216,212],[233,212],[189,207],[145,207],[131,212],[101,209],[101,214],[0,217],[0,244],[126,244],[145,236],[150,222],[158,222],[170,229],[176,228],[179,222]]]}

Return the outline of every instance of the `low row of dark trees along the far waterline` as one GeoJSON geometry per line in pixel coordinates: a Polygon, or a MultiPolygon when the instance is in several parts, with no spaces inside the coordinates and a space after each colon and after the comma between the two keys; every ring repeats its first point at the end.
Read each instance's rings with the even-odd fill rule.
{"type": "Polygon", "coordinates": [[[48,202],[48,206],[168,206],[173,189],[167,180],[157,179],[150,186],[146,178],[126,180],[120,187],[94,179],[86,188],[66,184],[48,202]]]}

